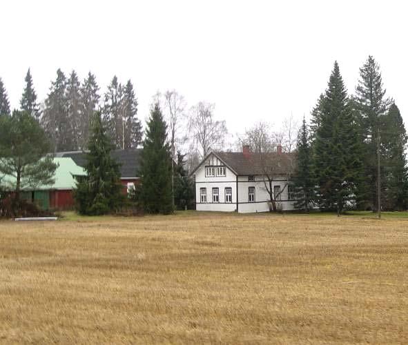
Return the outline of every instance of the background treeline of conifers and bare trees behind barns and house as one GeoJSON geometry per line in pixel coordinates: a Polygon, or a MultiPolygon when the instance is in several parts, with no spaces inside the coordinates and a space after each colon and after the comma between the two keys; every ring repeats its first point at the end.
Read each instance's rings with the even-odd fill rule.
{"type": "MultiPolygon", "coordinates": [[[[142,144],[137,97],[130,80],[121,83],[113,77],[101,95],[91,72],[80,81],[75,70],[67,77],[58,69],[43,103],[37,99],[30,69],[25,84],[19,110],[39,121],[55,151],[86,150],[95,111],[101,112],[114,148],[137,148],[142,144]]],[[[200,101],[188,106],[176,90],[157,92],[152,103],[159,104],[168,124],[172,157],[177,158],[177,149],[188,152],[189,170],[210,149],[224,147],[228,130],[225,121],[215,119],[213,103],[200,101]]],[[[10,113],[8,95],[0,77],[0,116],[10,113]]]]}

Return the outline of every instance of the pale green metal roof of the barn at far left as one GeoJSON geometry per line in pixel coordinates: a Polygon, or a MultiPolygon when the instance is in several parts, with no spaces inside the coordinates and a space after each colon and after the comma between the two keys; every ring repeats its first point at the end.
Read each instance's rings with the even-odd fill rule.
{"type": "MultiPolygon", "coordinates": [[[[72,189],[75,187],[75,179],[73,175],[84,176],[86,172],[81,166],[77,166],[75,161],[68,157],[55,157],[54,163],[58,164],[55,170],[55,183],[48,186],[37,186],[36,188],[23,188],[23,190],[50,190],[50,189],[72,189]]],[[[6,175],[1,179],[3,186],[15,186],[16,178],[6,175]]]]}

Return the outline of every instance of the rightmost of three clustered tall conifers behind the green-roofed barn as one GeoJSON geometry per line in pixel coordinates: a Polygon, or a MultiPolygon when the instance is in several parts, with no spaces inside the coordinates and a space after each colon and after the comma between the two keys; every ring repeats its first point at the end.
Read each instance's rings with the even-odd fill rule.
{"type": "Polygon", "coordinates": [[[99,86],[95,75],[91,72],[88,72],[88,77],[84,79],[84,82],[81,85],[81,121],[80,121],[80,130],[81,133],[81,142],[79,143],[79,148],[85,150],[88,146],[89,141],[89,131],[91,126],[91,120],[95,115],[97,106],[99,104],[99,86]]]}

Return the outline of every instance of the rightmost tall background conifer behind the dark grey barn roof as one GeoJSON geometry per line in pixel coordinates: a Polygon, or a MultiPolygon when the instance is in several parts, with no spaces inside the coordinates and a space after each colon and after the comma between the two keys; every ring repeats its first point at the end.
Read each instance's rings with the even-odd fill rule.
{"type": "Polygon", "coordinates": [[[142,124],[137,119],[137,99],[130,80],[124,88],[122,106],[122,148],[137,148],[142,142],[142,124]]]}

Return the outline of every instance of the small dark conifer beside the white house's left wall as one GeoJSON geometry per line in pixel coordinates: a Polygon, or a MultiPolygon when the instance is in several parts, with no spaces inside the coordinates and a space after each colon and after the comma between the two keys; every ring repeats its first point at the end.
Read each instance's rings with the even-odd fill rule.
{"type": "Polygon", "coordinates": [[[186,155],[182,155],[182,152],[177,151],[177,164],[175,165],[175,179],[174,179],[174,200],[175,206],[179,210],[184,210],[191,204],[191,200],[194,199],[194,186],[191,183],[188,172],[185,169],[186,161],[184,160],[186,155]]]}

